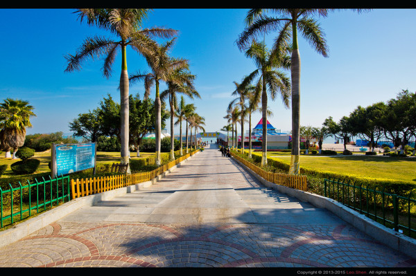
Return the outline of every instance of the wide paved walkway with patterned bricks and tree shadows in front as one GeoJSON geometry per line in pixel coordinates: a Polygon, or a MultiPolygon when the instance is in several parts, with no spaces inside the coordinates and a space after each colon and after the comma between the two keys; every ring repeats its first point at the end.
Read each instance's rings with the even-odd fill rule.
{"type": "Polygon", "coordinates": [[[0,250],[2,267],[416,267],[327,210],[263,187],[215,145],[158,183],[0,250]]]}

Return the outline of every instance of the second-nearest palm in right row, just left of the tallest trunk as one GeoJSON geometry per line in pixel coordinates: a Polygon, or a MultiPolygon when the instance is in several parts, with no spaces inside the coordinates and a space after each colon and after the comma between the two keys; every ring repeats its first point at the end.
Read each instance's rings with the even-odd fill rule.
{"type": "Polygon", "coordinates": [[[262,137],[262,154],[261,167],[267,165],[267,107],[268,93],[270,98],[275,100],[277,93],[280,93],[284,107],[289,107],[289,97],[291,95],[291,84],[288,77],[281,71],[277,71],[279,67],[288,67],[288,58],[279,53],[270,52],[264,43],[252,41],[250,47],[245,50],[245,55],[254,60],[257,69],[250,75],[245,77],[242,82],[243,86],[253,83],[258,77],[255,84],[257,93],[261,91],[261,107],[263,119],[263,137],[262,137]],[[268,91],[267,91],[268,88],[268,91]]]}

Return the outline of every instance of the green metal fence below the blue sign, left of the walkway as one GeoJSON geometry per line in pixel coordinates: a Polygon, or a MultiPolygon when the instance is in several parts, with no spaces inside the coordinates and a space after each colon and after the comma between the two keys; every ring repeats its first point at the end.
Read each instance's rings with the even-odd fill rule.
{"type": "Polygon", "coordinates": [[[27,185],[21,185],[19,181],[19,187],[8,185],[7,190],[0,187],[1,228],[71,200],[69,176],[53,179],[49,176],[48,180],[42,177],[41,182],[27,181],[27,185]]]}

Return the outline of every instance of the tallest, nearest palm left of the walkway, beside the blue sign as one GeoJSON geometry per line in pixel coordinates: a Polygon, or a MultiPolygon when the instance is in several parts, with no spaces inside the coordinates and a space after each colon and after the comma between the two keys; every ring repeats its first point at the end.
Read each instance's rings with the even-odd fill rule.
{"type": "MultiPolygon", "coordinates": [[[[120,40],[105,37],[88,37],[80,46],[76,55],[67,55],[68,66],[65,72],[79,71],[80,64],[88,58],[100,58],[104,55],[103,75],[111,76],[112,64],[116,53],[121,49],[121,76],[120,76],[120,102],[121,102],[121,163],[129,163],[129,83],[127,73],[126,48],[131,46],[142,55],[150,55],[155,42],[150,37],[172,37],[176,30],[165,28],[140,29],[143,19],[148,16],[148,9],[80,9],[77,11],[80,21],[87,19],[87,24],[95,25],[110,32],[120,40]]],[[[128,167],[128,173],[130,167],[128,167]]]]}

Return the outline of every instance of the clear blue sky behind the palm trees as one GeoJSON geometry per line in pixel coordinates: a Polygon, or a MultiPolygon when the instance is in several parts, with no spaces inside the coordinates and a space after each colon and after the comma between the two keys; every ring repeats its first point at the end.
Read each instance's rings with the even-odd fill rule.
{"type": "MultiPolygon", "coordinates": [[[[120,56],[110,79],[101,73],[101,60],[86,62],[82,71],[64,73],[64,55],[74,54],[86,37],[110,34],[82,24],[72,9],[0,9],[2,53],[0,100],[19,98],[35,107],[37,117],[28,134],[69,132],[79,113],[98,107],[108,93],[119,101],[120,56]]],[[[144,27],[164,26],[180,31],[171,51],[189,59],[202,99],[194,102],[205,117],[206,131],[226,125],[233,82],[254,70],[251,59],[236,47],[247,9],[155,9],[144,27]]],[[[358,105],[395,98],[402,89],[416,91],[415,9],[351,10],[320,18],[329,57],[316,53],[301,37],[301,125],[321,127],[325,118],[338,121],[358,105]]],[[[271,47],[274,35],[266,37],[271,47]]],[[[143,57],[128,51],[128,73],[149,71],[143,57]]],[[[290,72],[286,72],[290,76],[290,72]]],[[[144,95],[144,85],[130,93],[144,95]]],[[[165,86],[162,86],[164,89],[165,86]]],[[[155,93],[151,94],[154,97],[155,93]]],[[[291,130],[291,110],[281,100],[269,100],[269,121],[281,131],[291,130]]],[[[253,124],[261,118],[253,115],[253,124]]],[[[248,126],[245,127],[247,129],[248,126]]],[[[254,127],[254,125],[253,125],[254,127]]],[[[175,128],[175,134],[178,133],[175,128]]]]}

